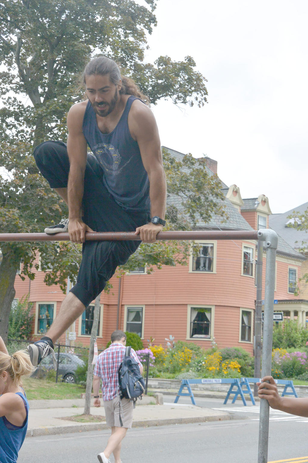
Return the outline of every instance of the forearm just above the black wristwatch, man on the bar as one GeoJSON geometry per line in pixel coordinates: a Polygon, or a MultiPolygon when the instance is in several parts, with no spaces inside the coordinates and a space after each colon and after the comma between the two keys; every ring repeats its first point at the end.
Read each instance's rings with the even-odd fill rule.
{"type": "Polygon", "coordinates": [[[158,166],[148,173],[150,181],[151,217],[164,219],[166,212],[166,177],[163,166],[158,166]]]}

